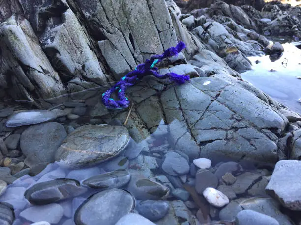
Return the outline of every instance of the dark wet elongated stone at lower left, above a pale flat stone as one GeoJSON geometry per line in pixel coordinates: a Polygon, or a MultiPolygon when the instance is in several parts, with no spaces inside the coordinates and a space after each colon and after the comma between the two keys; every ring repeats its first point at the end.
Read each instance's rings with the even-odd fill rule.
{"type": "Polygon", "coordinates": [[[72,179],[55,179],[40,182],[24,193],[25,198],[33,205],[45,205],[75,197],[86,192],[78,181],[72,179]]]}

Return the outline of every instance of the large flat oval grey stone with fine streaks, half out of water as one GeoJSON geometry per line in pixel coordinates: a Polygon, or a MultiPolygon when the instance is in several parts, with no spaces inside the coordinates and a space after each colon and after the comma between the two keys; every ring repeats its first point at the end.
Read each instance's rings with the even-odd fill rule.
{"type": "Polygon", "coordinates": [[[67,136],[55,159],[69,167],[90,166],[119,155],[128,142],[125,127],[84,125],[67,136]]]}

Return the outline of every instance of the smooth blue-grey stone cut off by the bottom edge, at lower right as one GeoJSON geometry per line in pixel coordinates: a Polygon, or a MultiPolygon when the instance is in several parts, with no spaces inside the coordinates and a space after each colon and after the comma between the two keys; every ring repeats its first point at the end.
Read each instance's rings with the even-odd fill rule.
{"type": "Polygon", "coordinates": [[[280,225],[277,220],[253,210],[242,210],[235,217],[237,225],[280,225]]]}

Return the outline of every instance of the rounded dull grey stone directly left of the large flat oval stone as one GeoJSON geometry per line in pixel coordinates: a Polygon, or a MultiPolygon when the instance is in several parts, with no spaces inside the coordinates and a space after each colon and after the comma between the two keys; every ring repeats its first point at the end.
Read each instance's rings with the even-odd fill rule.
{"type": "Polygon", "coordinates": [[[50,163],[66,136],[64,126],[57,122],[33,125],[22,133],[20,147],[35,164],[50,163]]]}

